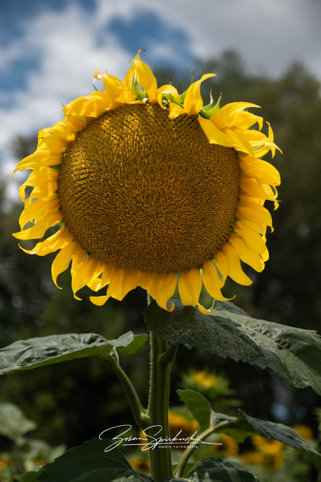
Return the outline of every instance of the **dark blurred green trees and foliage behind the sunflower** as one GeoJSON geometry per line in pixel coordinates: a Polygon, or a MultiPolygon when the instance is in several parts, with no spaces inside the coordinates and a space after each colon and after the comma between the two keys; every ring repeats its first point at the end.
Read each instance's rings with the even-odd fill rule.
{"type": "MultiPolygon", "coordinates": [[[[291,326],[318,329],[321,318],[321,117],[320,84],[303,65],[293,65],[279,79],[251,75],[242,59],[227,52],[218,59],[198,63],[195,79],[216,72],[213,97],[223,92],[221,105],[245,100],[262,107],[259,112],[271,122],[275,141],[283,156],[272,163],[281,173],[281,204],[273,213],[275,231],[268,235],[270,260],[251,287],[230,282],[226,295],[237,294],[235,303],[251,315],[291,326]]],[[[159,85],[169,79],[185,90],[191,72],[171,68],[156,72],[159,85]]],[[[208,89],[208,85],[205,86],[208,89]]],[[[204,90],[203,95],[208,95],[204,90]]],[[[256,110],[255,110],[256,111],[256,110]]],[[[254,110],[253,110],[254,112],[254,110]]],[[[258,112],[255,112],[258,113],[258,112]]],[[[32,153],[36,138],[17,137],[13,152],[17,161],[32,153]]],[[[271,157],[266,160],[271,162],[271,157]]],[[[3,186],[4,187],[4,186],[3,186]]],[[[55,255],[37,257],[18,249],[11,234],[19,230],[21,202],[5,209],[0,192],[0,346],[15,340],[56,333],[93,332],[113,339],[125,333],[147,333],[142,311],[146,294],[137,289],[123,302],[110,300],[95,307],[83,290],[83,301],[73,298],[70,274],[60,275],[58,290],[51,280],[55,255]]],[[[272,205],[272,203],[270,203],[272,205]]],[[[7,206],[7,204],[6,204],[7,206]]],[[[268,206],[267,206],[268,207],[268,206]]],[[[270,207],[273,209],[273,206],[270,207]]],[[[28,243],[24,244],[24,247],[28,243]]],[[[34,243],[30,243],[33,247],[34,243]]],[[[147,399],[148,355],[146,347],[123,366],[143,400],[147,399]]],[[[253,417],[285,424],[305,423],[316,434],[313,411],[320,405],[310,389],[297,390],[270,370],[180,347],[173,371],[172,405],[179,403],[175,389],[180,374],[190,368],[217,370],[227,374],[243,409],[253,417]]],[[[133,423],[122,388],[111,371],[85,359],[3,376],[2,400],[16,403],[35,420],[34,436],[51,445],[68,448],[97,437],[114,422],[133,423]]],[[[233,413],[233,409],[231,409],[233,413]]],[[[0,449],[7,443],[0,438],[0,449]],[[2,445],[1,445],[2,444],[2,445]]]]}

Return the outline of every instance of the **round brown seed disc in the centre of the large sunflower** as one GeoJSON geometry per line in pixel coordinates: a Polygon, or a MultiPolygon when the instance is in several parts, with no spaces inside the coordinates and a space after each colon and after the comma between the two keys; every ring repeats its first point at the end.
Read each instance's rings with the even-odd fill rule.
{"type": "Polygon", "coordinates": [[[64,219],[84,249],[119,268],[200,266],[231,233],[237,157],[209,144],[197,116],[121,106],[68,145],[58,179],[64,219]]]}

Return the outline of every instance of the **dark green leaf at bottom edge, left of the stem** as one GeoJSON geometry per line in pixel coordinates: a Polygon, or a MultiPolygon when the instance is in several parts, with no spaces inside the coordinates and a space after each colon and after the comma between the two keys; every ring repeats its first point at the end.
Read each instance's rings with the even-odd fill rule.
{"type": "Polygon", "coordinates": [[[39,482],[101,482],[121,479],[125,482],[154,482],[148,475],[132,470],[121,451],[115,447],[105,452],[113,442],[92,439],[61,455],[46,465],[39,482]]]}

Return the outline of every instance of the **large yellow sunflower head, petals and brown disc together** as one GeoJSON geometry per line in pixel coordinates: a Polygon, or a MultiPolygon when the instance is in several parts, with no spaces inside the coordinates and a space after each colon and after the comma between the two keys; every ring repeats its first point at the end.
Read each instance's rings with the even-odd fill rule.
{"type": "Polygon", "coordinates": [[[179,277],[183,305],[209,313],[199,303],[202,283],[225,300],[227,276],[252,283],[240,260],[262,271],[268,259],[272,219],[263,204],[277,207],[280,176],[260,157],[278,147],[270,124],[265,136],[262,118],[246,110],[258,106],[203,106],[201,83],[215,74],[179,94],[172,85],[157,88],[139,54],[123,82],[95,72],[105,91],[73,100],[63,121],[39,131],[37,150],[15,169],[32,169],[22,201],[25,188],[32,191],[14,236],[45,237],[22,248],[30,254],[59,250],[56,285],[72,262],[76,299],[86,285],[94,292],[108,285],[90,298],[95,305],[141,286],[172,311],[179,277]]]}

